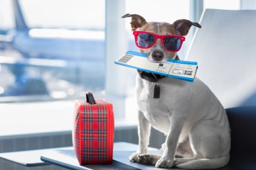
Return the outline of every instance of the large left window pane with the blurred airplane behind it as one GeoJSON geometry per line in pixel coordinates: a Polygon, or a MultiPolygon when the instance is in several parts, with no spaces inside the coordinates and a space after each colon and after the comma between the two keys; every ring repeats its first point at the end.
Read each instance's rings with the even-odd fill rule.
{"type": "Polygon", "coordinates": [[[104,90],[104,0],[0,3],[2,102],[14,96],[79,98],[104,90]]]}

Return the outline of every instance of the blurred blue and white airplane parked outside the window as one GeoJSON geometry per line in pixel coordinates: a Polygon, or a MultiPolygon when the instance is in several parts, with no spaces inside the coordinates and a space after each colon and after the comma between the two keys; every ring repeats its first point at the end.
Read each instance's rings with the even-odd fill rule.
{"type": "MultiPolygon", "coordinates": [[[[0,32],[0,45],[13,48],[22,57],[0,56],[15,76],[15,84],[0,96],[50,94],[42,72],[52,72],[71,84],[87,89],[105,87],[105,31],[62,28],[28,28],[18,0],[12,1],[15,29],[0,32]],[[40,74],[26,72],[36,67],[40,74]]],[[[134,42],[130,43],[134,46],[134,42]]],[[[1,86],[1,84],[0,84],[1,86]]]]}

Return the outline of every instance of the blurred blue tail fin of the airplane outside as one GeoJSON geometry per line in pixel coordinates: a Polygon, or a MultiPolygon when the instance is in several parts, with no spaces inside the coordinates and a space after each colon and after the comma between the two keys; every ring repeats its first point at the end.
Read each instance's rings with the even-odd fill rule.
{"type": "Polygon", "coordinates": [[[16,30],[28,31],[28,26],[26,25],[26,22],[24,20],[23,14],[21,12],[21,6],[18,0],[13,0],[13,8],[14,8],[16,30]]]}

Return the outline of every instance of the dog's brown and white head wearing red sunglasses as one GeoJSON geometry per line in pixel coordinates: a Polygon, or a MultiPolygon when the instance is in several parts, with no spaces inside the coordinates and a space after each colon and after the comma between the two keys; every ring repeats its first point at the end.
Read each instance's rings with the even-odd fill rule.
{"type": "Polygon", "coordinates": [[[163,63],[169,59],[175,59],[176,52],[180,50],[183,36],[188,34],[191,26],[201,28],[199,23],[193,23],[186,19],[177,20],[174,23],[146,22],[137,14],[129,14],[122,18],[132,17],[132,30],[139,51],[148,56],[150,62],[163,63]],[[166,36],[159,36],[166,35],[166,36]]]}

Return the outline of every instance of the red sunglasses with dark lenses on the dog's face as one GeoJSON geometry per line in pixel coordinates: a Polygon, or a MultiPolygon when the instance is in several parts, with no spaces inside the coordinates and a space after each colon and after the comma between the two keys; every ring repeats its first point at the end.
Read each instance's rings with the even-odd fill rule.
{"type": "Polygon", "coordinates": [[[181,49],[181,45],[185,40],[185,37],[180,35],[157,35],[139,30],[134,30],[133,34],[137,47],[144,49],[152,47],[156,40],[160,38],[162,45],[164,45],[167,51],[177,52],[181,49]]]}

